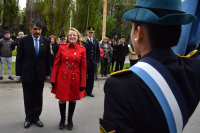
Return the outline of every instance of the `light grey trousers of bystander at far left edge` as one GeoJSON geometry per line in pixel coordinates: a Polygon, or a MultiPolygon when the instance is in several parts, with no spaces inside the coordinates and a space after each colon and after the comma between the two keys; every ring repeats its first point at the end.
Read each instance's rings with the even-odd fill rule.
{"type": "Polygon", "coordinates": [[[7,66],[8,66],[8,75],[11,76],[12,75],[12,57],[1,57],[1,76],[3,77],[4,75],[4,68],[5,68],[5,64],[7,62],[7,66]]]}

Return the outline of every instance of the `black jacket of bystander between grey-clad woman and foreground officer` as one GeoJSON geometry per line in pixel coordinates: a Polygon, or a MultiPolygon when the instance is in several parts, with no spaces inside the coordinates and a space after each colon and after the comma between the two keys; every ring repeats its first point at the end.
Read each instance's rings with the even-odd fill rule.
{"type": "Polygon", "coordinates": [[[125,57],[129,53],[128,44],[124,43],[124,46],[123,44],[116,45],[115,50],[116,50],[116,60],[125,61],[125,57]]]}

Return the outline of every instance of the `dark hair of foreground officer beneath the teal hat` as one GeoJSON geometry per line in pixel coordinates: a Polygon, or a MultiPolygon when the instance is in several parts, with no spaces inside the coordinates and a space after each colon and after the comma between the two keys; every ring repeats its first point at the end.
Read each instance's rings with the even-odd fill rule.
{"type": "Polygon", "coordinates": [[[135,31],[138,26],[145,27],[151,47],[173,47],[179,42],[181,36],[181,25],[157,25],[143,22],[133,22],[135,31]]]}

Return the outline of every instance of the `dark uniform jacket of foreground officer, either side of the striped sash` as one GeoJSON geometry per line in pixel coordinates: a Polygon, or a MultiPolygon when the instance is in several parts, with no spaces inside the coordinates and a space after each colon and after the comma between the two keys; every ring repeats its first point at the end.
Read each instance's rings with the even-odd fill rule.
{"type": "MultiPolygon", "coordinates": [[[[171,72],[185,97],[191,116],[200,100],[200,52],[190,58],[179,57],[165,47],[155,49],[145,57],[158,60],[171,72]]],[[[115,127],[116,133],[169,133],[156,97],[132,71],[112,75],[106,80],[104,91],[104,115],[100,124],[105,125],[105,130],[115,127]]]]}

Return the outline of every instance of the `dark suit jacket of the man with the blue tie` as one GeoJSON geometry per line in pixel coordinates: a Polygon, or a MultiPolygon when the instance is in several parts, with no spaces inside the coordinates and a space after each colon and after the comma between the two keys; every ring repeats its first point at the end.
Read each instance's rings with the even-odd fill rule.
{"type": "Polygon", "coordinates": [[[36,57],[32,35],[19,40],[16,58],[16,76],[21,76],[22,82],[44,82],[50,75],[50,42],[40,36],[39,53],[36,57]]]}

